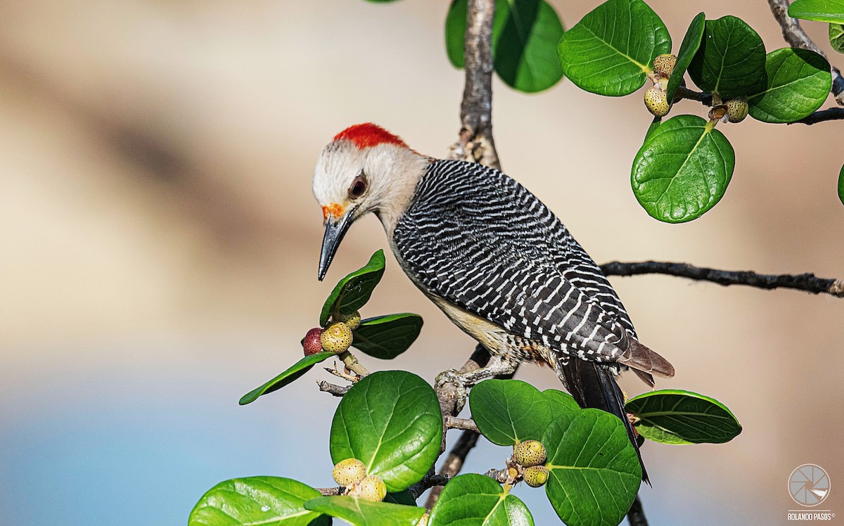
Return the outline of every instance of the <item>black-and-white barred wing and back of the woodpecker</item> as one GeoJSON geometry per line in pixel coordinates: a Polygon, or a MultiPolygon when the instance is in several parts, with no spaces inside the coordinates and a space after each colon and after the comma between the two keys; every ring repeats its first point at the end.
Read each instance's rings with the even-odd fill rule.
{"type": "Polygon", "coordinates": [[[405,266],[436,296],[551,349],[616,361],[628,333],[576,285],[595,280],[576,272],[585,252],[569,240],[580,248],[524,187],[460,161],[432,163],[393,234],[405,266]]]}

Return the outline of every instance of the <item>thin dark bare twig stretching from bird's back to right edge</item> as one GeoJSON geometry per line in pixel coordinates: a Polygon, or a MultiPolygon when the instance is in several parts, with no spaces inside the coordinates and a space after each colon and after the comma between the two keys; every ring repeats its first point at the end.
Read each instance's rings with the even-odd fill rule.
{"type": "Polygon", "coordinates": [[[621,263],[613,261],[601,265],[608,276],[632,276],[636,274],[668,274],[680,278],[711,281],[718,285],[748,285],[759,289],[796,289],[812,294],[829,294],[844,297],[844,280],[816,278],[814,274],[756,274],[749,270],[719,270],[717,268],[695,267],[688,263],[663,261],[642,261],[621,263]]]}

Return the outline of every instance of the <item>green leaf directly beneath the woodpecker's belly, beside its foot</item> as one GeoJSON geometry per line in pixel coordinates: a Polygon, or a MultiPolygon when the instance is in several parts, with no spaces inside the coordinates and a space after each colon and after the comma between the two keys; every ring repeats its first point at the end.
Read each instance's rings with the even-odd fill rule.
{"type": "Polygon", "coordinates": [[[538,440],[551,421],[548,400],[521,380],[484,380],[469,393],[472,418],[484,437],[499,446],[538,440]]]}

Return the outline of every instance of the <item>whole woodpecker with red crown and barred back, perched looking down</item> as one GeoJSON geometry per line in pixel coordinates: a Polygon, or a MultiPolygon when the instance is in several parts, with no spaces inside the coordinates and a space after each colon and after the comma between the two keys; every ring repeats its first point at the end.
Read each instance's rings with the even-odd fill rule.
{"type": "Polygon", "coordinates": [[[639,343],[601,269],[525,187],[484,165],[421,155],[365,123],[322,150],[313,192],[325,221],[320,280],[349,226],[374,213],[408,277],[493,356],[438,381],[471,386],[522,362],[547,364],[582,407],[618,416],[636,447],[615,377],[631,368],[653,387],[652,374],[672,377],[674,367],[639,343]]]}

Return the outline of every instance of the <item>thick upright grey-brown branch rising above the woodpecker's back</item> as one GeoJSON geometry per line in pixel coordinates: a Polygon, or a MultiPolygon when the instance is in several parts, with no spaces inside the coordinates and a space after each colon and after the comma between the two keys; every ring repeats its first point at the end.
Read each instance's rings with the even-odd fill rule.
{"type": "Polygon", "coordinates": [[[466,85],[460,106],[460,135],[449,157],[500,170],[492,138],[492,19],[495,0],[468,0],[465,57],[466,85]]]}

